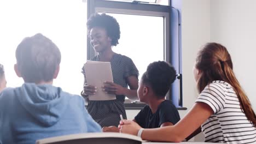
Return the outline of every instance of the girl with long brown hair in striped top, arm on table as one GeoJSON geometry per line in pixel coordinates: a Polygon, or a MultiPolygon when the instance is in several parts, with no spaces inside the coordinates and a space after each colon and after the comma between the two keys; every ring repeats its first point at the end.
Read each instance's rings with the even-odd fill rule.
{"type": "Polygon", "coordinates": [[[255,143],[256,116],[232,69],[228,50],[207,43],[193,70],[200,94],[187,115],[173,126],[156,129],[124,120],[120,131],[139,134],[143,140],[180,142],[201,126],[206,142],[255,143]]]}

